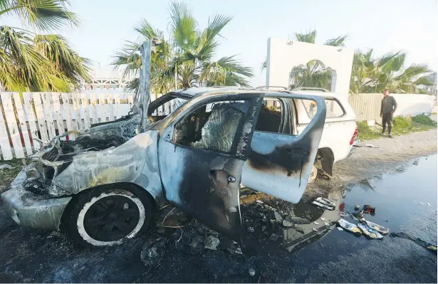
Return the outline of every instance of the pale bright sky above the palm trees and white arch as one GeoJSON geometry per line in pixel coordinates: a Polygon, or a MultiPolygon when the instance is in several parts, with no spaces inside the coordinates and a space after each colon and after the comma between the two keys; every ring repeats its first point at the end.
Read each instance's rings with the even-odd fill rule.
{"type": "MultiPolygon", "coordinates": [[[[142,19],[167,31],[169,1],[71,0],[82,23],[63,31],[81,56],[100,64],[99,73],[111,70],[111,56],[125,40],[135,41],[133,31],[142,19]]],[[[407,63],[427,63],[438,70],[437,0],[187,0],[199,26],[209,16],[226,14],[234,19],[222,31],[217,57],[239,55],[254,68],[254,86],[264,85],[261,62],[269,37],[293,39],[295,32],[316,28],[317,43],[348,34],[349,48],[374,48],[376,55],[403,49],[407,63]]],[[[16,19],[0,24],[20,26],[16,19]]]]}

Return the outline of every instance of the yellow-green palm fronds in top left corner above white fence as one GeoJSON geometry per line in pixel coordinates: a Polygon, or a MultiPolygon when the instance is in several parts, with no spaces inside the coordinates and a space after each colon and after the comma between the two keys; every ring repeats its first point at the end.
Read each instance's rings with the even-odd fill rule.
{"type": "MultiPolygon", "coordinates": [[[[1,16],[16,15],[38,31],[76,25],[67,0],[0,0],[1,16]]],[[[89,80],[89,61],[65,38],[0,26],[0,89],[69,92],[89,80]]]]}

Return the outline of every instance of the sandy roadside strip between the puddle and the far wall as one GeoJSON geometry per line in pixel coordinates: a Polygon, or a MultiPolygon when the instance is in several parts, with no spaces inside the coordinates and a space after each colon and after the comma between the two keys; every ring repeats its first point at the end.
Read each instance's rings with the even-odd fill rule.
{"type": "Polygon", "coordinates": [[[335,163],[332,179],[316,179],[316,182],[308,185],[306,195],[342,189],[377,174],[400,172],[404,162],[437,152],[437,129],[363,141],[358,146],[361,147],[354,147],[350,157],[335,163]],[[365,144],[378,148],[365,147],[365,144]]]}

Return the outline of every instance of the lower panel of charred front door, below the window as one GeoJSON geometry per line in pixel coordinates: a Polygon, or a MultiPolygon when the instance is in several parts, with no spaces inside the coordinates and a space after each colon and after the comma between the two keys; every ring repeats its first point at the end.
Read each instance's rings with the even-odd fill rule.
{"type": "Polygon", "coordinates": [[[244,161],[170,142],[160,142],[159,149],[167,200],[216,231],[239,235],[238,186],[244,161]],[[229,176],[236,181],[229,182],[229,176]]]}

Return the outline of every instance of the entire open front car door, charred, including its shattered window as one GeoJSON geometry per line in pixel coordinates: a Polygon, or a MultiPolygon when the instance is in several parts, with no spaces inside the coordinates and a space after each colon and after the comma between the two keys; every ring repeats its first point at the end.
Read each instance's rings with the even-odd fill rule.
{"type": "Polygon", "coordinates": [[[241,171],[262,100],[263,94],[194,98],[158,144],[166,199],[235,239],[241,233],[241,171]]]}

